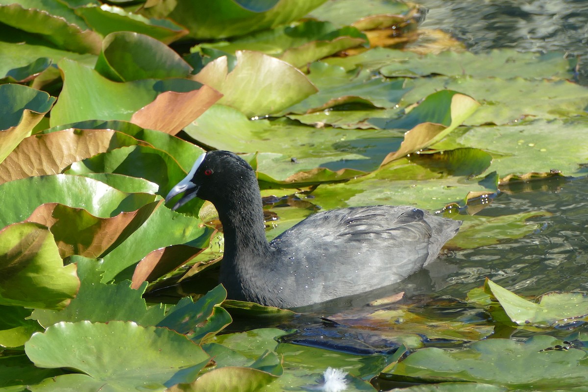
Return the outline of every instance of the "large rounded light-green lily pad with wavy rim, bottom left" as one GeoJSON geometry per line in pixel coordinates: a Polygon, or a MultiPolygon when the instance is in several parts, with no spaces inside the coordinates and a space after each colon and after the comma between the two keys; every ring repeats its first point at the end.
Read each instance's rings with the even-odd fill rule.
{"type": "Polygon", "coordinates": [[[25,351],[38,367],[67,367],[84,373],[48,379],[32,387],[34,391],[163,391],[193,381],[209,360],[199,346],[175,331],[124,321],[58,323],[32,336],[25,351]]]}

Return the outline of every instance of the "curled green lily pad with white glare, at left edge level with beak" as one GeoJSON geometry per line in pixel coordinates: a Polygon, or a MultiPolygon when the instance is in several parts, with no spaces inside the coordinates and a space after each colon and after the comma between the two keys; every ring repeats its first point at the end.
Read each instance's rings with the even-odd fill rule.
{"type": "Polygon", "coordinates": [[[83,208],[93,216],[111,217],[135,211],[154,199],[155,195],[121,192],[82,176],[28,177],[0,185],[0,227],[25,220],[44,203],[60,203],[83,208]]]}

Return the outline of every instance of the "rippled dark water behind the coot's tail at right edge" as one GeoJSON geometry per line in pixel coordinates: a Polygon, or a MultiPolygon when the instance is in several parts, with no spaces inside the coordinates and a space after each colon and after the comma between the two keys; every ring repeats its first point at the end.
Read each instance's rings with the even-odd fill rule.
{"type": "Polygon", "coordinates": [[[462,250],[436,295],[463,298],[484,277],[522,295],[552,290],[588,291],[588,179],[576,179],[552,190],[500,194],[478,215],[506,215],[543,210],[552,213],[531,219],[540,229],[518,240],[462,250]]]}

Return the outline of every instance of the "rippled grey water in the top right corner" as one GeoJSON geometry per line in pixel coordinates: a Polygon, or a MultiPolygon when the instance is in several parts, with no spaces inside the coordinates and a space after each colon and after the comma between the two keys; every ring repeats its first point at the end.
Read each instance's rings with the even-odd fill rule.
{"type": "MultiPolygon", "coordinates": [[[[560,51],[588,55],[588,2],[585,0],[417,0],[429,9],[423,28],[442,29],[472,52],[515,48],[522,52],[560,51]]],[[[580,62],[581,81],[588,66],[580,62]]]]}

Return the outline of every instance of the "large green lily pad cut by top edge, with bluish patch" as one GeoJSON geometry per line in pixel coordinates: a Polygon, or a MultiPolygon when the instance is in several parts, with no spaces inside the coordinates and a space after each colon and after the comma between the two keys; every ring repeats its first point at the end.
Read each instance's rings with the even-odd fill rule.
{"type": "Polygon", "coordinates": [[[179,0],[172,5],[143,9],[149,16],[168,16],[185,26],[191,38],[204,41],[286,25],[300,19],[325,0],[233,1],[179,0]]]}

